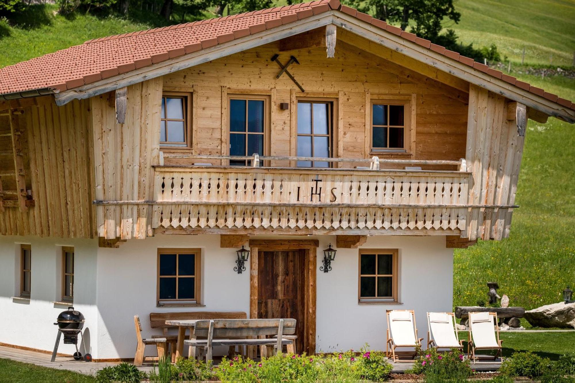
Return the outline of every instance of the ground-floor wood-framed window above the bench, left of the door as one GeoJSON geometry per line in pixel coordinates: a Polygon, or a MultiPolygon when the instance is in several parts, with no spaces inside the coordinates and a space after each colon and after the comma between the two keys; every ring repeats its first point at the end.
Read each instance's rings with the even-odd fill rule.
{"type": "Polygon", "coordinates": [[[158,305],[200,304],[200,249],[158,249],[158,305]]]}

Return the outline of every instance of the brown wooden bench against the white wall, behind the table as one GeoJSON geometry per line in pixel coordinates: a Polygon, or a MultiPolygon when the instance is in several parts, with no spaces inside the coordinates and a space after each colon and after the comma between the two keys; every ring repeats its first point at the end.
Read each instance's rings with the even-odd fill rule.
{"type": "MultiPolygon", "coordinates": [[[[175,344],[178,335],[168,335],[170,328],[177,329],[177,326],[166,324],[166,320],[194,320],[194,319],[246,319],[247,314],[242,311],[190,311],[190,312],[151,312],[150,327],[161,328],[164,335],[153,335],[152,338],[166,338],[170,345],[170,355],[172,362],[175,362],[176,348],[175,344]]],[[[190,334],[191,335],[191,334],[190,334]]],[[[191,351],[191,350],[190,350],[191,351]]],[[[233,355],[234,347],[230,347],[229,355],[233,355]]]]}

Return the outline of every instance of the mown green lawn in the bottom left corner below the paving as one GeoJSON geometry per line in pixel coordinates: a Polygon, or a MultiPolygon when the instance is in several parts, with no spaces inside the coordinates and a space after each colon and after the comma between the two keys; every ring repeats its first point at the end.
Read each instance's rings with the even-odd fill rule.
{"type": "Polygon", "coordinates": [[[0,382],[2,383],[92,383],[95,381],[94,377],[72,371],[0,359],[0,382]]]}

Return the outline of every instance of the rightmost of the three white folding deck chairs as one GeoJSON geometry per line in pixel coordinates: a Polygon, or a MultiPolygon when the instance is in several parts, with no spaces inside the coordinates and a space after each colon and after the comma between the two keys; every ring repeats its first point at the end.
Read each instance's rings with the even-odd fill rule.
{"type": "MultiPolygon", "coordinates": [[[[473,363],[477,363],[476,350],[497,350],[494,361],[501,356],[501,342],[499,339],[499,325],[497,325],[497,313],[495,312],[470,312],[469,313],[469,342],[467,343],[467,355],[471,352],[473,363]]],[[[503,361],[503,358],[501,358],[503,361]]]]}

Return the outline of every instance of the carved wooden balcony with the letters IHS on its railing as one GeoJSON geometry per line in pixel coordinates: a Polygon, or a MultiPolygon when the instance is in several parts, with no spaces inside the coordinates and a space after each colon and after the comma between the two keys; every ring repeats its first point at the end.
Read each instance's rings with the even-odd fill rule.
{"type": "Polygon", "coordinates": [[[266,167],[270,156],[190,156],[196,160],[246,159],[252,166],[155,167],[152,228],[174,233],[339,233],[459,235],[465,232],[471,173],[465,161],[315,158],[331,168],[266,167]],[[338,164],[365,163],[366,168],[338,164]],[[450,166],[453,171],[393,170],[450,166]]]}

